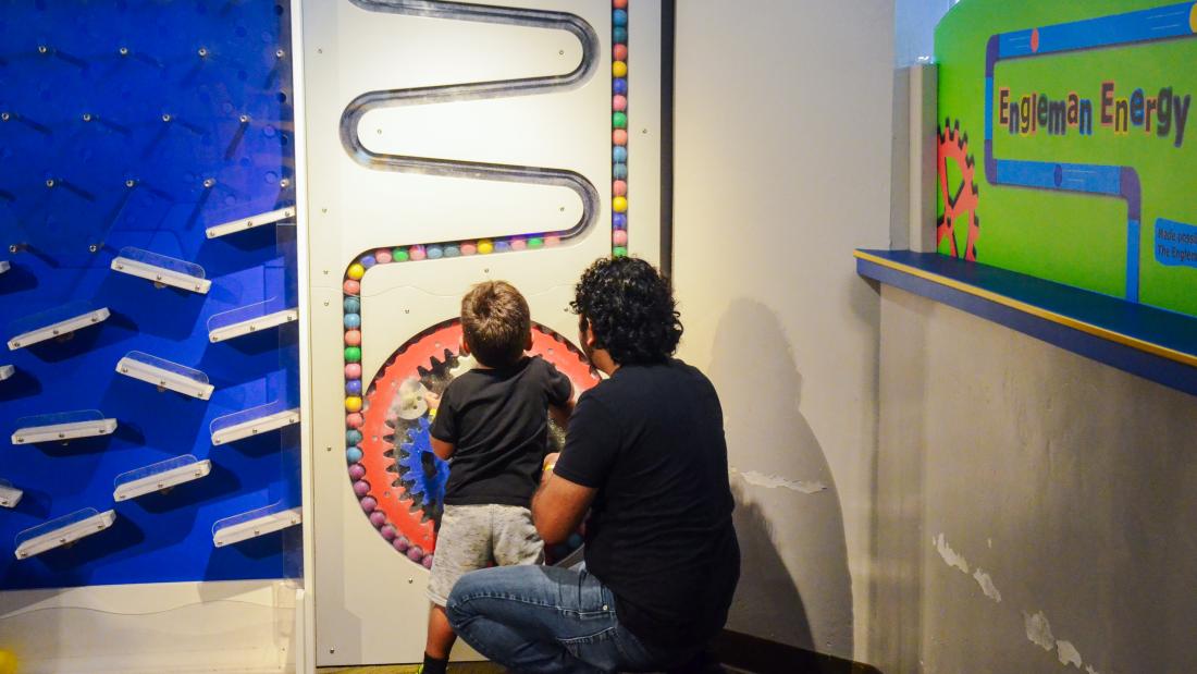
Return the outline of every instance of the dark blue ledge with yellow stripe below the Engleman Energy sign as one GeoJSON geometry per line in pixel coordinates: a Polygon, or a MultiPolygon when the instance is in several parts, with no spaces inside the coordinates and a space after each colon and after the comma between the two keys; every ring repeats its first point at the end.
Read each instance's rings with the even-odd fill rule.
{"type": "Polygon", "coordinates": [[[1197,395],[1197,317],[935,253],[857,250],[856,271],[1197,395]]]}

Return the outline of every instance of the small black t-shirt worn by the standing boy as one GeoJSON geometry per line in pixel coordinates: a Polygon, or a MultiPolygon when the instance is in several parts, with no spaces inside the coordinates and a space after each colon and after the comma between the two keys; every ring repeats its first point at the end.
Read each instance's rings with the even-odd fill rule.
{"type": "Polygon", "coordinates": [[[547,406],[565,405],[572,393],[569,377],[539,356],[450,382],[431,430],[456,445],[445,503],[527,508],[547,451],[547,406]]]}

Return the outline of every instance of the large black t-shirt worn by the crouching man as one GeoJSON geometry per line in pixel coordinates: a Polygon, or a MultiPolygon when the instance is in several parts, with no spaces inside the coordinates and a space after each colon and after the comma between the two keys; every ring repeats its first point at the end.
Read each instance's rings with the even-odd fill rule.
{"type": "Polygon", "coordinates": [[[681,360],[620,368],[582,394],[554,470],[598,490],[587,571],[614,593],[620,621],[662,646],[713,638],[740,547],[711,382],[681,360]]]}

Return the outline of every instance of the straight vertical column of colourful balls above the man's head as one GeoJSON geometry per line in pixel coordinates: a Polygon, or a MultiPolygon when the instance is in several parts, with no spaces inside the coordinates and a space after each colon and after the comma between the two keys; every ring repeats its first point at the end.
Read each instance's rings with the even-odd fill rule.
{"type": "Polygon", "coordinates": [[[627,255],[627,0],[612,0],[610,253],[627,255]]]}

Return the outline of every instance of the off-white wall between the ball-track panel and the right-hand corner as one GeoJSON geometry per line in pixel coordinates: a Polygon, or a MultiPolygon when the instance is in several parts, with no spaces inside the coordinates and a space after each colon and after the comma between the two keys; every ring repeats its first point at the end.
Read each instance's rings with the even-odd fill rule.
{"type": "Polygon", "coordinates": [[[851,253],[888,244],[893,36],[892,0],[678,4],[674,277],[739,472],[729,627],[841,657],[869,615],[879,303],[851,253]]]}

